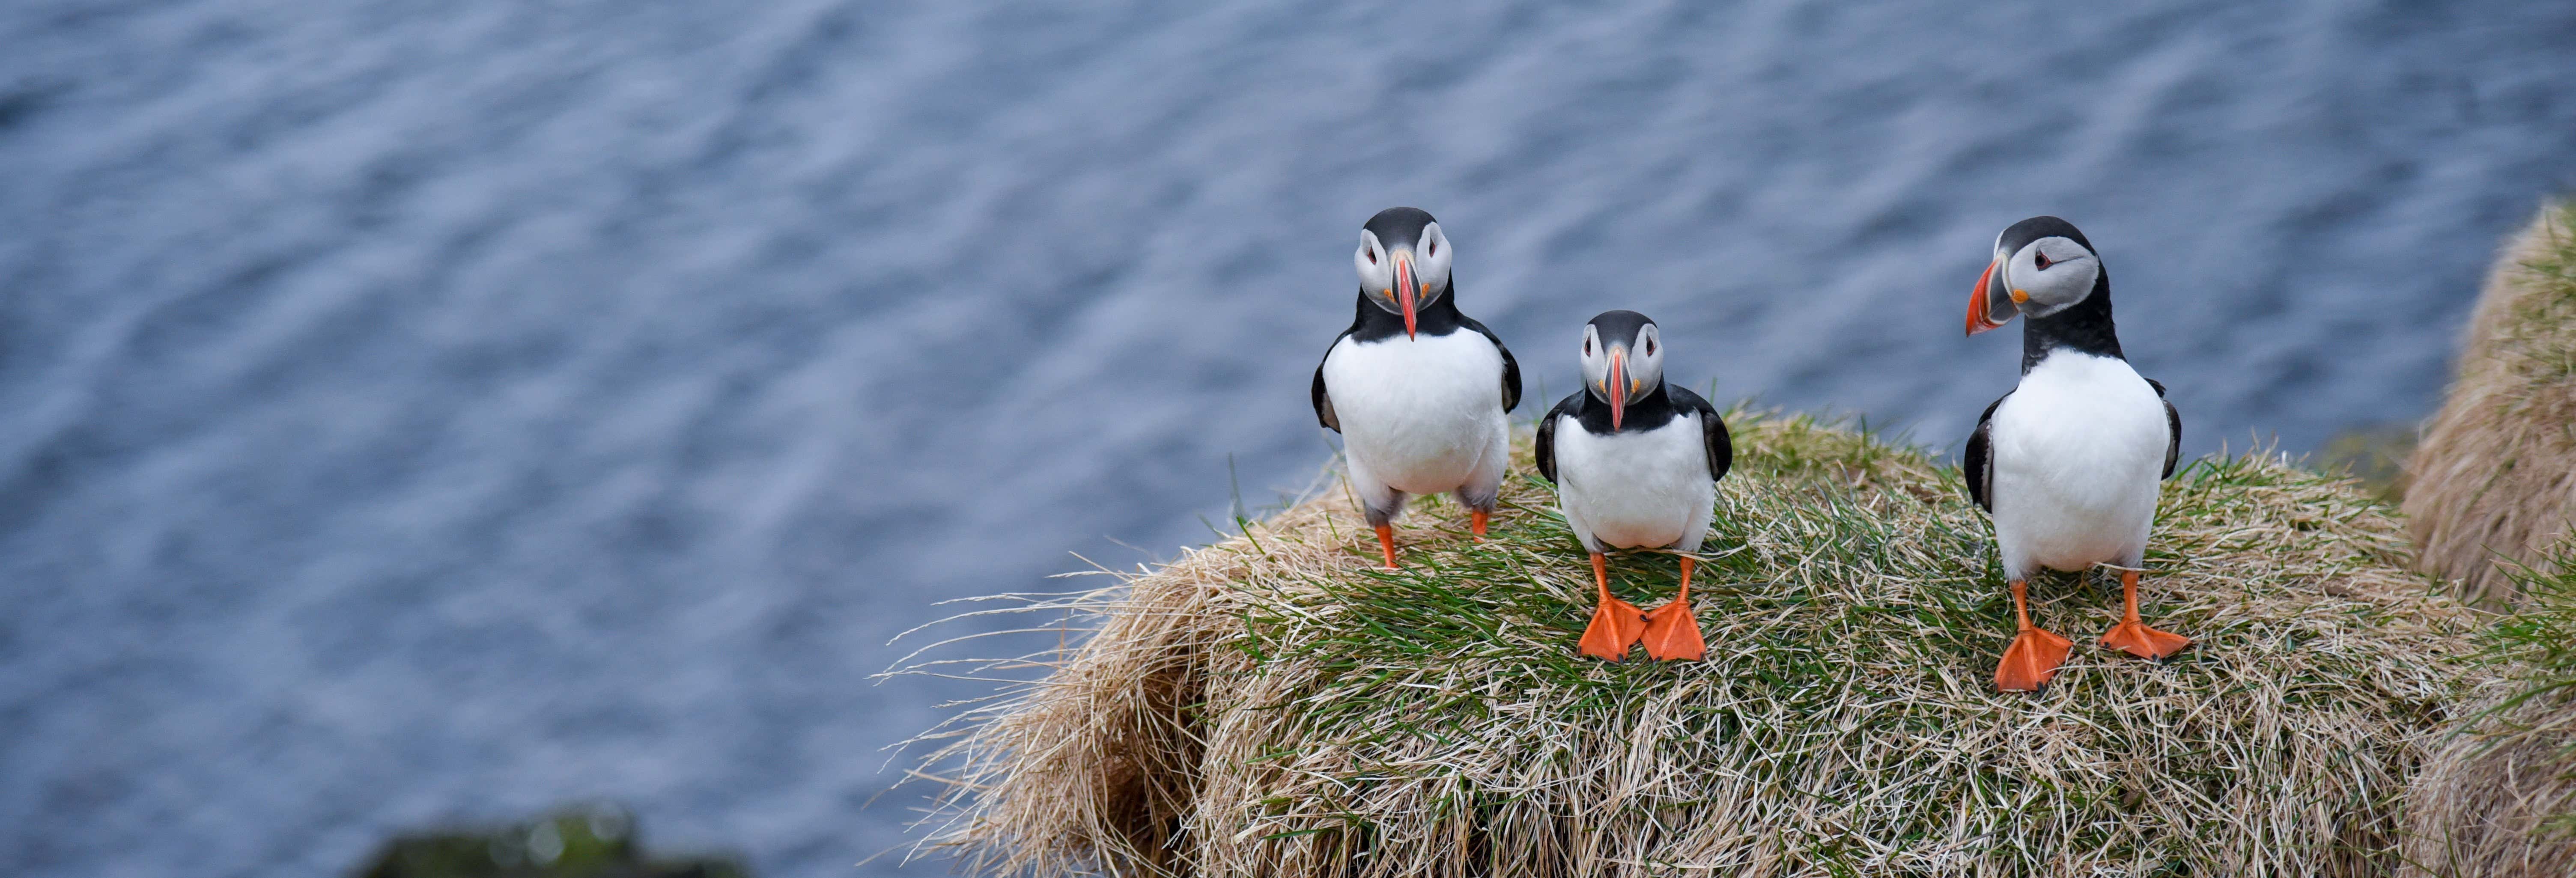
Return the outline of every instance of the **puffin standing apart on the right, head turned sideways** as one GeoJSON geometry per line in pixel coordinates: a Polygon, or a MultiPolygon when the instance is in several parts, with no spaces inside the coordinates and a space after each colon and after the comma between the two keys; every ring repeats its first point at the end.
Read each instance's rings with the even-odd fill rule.
{"type": "Polygon", "coordinates": [[[2156,484],[2174,474],[2182,415],[2164,384],[2120,355],[2102,255],[2071,221],[2032,216],[1994,237],[1994,260],[1968,296],[1968,335],[2022,322],[2022,381],[1976,417],[1968,497],[1994,520],[2020,633],[1994,685],[2032,693],[2056,677],[2069,641],[2030,623],[2040,566],[2120,569],[2120,623],[2102,646],[2164,659],[2192,641],[2138,618],[2138,569],[2156,520],[2156,484]]]}

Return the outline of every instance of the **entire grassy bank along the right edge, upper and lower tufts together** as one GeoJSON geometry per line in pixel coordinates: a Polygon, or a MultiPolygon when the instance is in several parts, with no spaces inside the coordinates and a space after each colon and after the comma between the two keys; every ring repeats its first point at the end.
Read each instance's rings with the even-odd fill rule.
{"type": "Polygon", "coordinates": [[[2460,371],[2406,463],[2424,569],[2509,613],[2499,685],[2414,783],[2409,875],[2576,875],[2576,206],[2496,257],[2460,371]]]}

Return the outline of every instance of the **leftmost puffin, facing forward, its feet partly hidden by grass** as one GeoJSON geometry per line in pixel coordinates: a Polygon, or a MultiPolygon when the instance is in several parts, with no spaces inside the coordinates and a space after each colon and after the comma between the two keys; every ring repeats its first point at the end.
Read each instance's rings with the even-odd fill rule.
{"type": "Polygon", "coordinates": [[[1396,569],[1396,512],[1409,494],[1455,492],[1484,538],[1512,456],[1504,412],[1520,407],[1520,363],[1458,312],[1453,247],[1422,209],[1383,209],[1360,227],[1360,306],[1314,368],[1314,417],[1342,435],[1352,492],[1396,569]]]}

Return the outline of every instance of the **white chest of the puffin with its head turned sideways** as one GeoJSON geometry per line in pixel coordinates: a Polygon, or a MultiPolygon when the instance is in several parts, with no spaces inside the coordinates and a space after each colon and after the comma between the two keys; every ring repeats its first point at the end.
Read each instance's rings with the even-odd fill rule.
{"type": "Polygon", "coordinates": [[[2007,574],[2143,556],[2172,425],[2128,363],[2050,353],[1994,409],[1989,443],[2007,574]]]}

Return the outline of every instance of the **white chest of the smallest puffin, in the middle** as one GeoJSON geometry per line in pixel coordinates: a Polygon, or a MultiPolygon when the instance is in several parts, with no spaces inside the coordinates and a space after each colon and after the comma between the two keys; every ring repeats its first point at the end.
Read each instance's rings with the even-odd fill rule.
{"type": "Polygon", "coordinates": [[[1708,476],[1708,443],[1698,415],[1677,415],[1654,430],[1613,435],[1556,422],[1556,500],[1566,520],[1615,548],[1690,543],[1705,528],[1718,487],[1708,476]]]}

